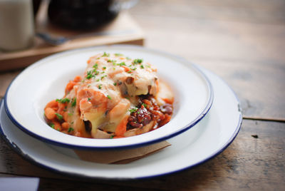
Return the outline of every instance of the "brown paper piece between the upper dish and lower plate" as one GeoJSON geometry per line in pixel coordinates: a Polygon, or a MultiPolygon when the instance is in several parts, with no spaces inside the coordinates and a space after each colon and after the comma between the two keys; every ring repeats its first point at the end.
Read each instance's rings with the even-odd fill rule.
{"type": "Polygon", "coordinates": [[[141,148],[132,148],[124,150],[74,150],[76,155],[78,155],[81,160],[86,160],[89,162],[98,162],[105,164],[127,164],[133,160],[138,160],[140,158],[145,158],[148,155],[162,150],[170,146],[167,141],[162,141],[160,143],[155,143],[153,145],[147,145],[141,148]]]}

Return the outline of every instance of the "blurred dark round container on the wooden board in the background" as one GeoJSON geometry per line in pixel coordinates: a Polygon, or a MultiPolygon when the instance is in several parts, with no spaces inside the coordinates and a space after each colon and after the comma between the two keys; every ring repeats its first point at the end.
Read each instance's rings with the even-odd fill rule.
{"type": "Polygon", "coordinates": [[[96,29],[115,19],[119,11],[113,0],[51,0],[48,19],[66,29],[96,29]]]}

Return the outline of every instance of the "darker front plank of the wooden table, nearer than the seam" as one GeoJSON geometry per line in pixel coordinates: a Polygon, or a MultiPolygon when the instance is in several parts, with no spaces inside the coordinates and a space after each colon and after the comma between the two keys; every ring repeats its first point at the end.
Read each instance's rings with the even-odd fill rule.
{"type": "Polygon", "coordinates": [[[84,180],[58,175],[27,162],[1,139],[0,173],[2,176],[41,177],[40,187],[48,189],[282,190],[285,180],[284,133],[284,123],[244,120],[236,140],[216,158],[177,174],[130,181],[84,180]]]}

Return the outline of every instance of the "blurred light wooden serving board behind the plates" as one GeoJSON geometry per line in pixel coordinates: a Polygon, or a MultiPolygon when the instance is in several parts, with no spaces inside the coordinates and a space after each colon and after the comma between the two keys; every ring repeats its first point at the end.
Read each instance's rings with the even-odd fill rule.
{"type": "Polygon", "coordinates": [[[140,29],[140,26],[136,24],[127,11],[121,12],[114,21],[104,28],[87,32],[68,31],[49,24],[46,16],[46,7],[46,4],[43,4],[38,11],[35,20],[36,32],[49,33],[51,36],[71,37],[86,33],[90,34],[90,36],[73,39],[61,46],[48,45],[46,42],[35,36],[31,48],[14,52],[0,51],[0,71],[11,71],[18,68],[24,68],[48,55],[74,48],[118,43],[143,45],[144,34],[140,29]],[[100,33],[100,35],[98,35],[98,33],[100,33]]]}

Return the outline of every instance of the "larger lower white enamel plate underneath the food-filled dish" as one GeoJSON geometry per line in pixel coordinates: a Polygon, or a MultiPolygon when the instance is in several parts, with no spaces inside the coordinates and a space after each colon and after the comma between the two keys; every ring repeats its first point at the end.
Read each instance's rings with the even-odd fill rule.
{"type": "Polygon", "coordinates": [[[185,170],[209,160],[227,148],[242,123],[239,101],[232,90],[214,74],[208,71],[204,73],[212,82],[215,95],[206,117],[193,128],[168,139],[170,147],[126,165],[86,162],[80,160],[69,148],[51,146],[32,138],[11,123],[4,104],[0,108],[0,133],[12,148],[31,162],[68,175],[134,179],[185,170]]]}

